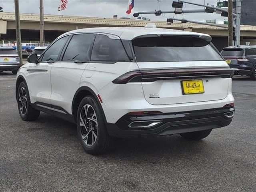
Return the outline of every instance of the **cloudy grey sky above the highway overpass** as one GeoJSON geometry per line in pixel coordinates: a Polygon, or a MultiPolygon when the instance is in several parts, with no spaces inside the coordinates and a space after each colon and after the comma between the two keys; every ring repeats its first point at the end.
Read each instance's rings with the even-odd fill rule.
{"type": "MultiPolygon", "coordinates": [[[[158,10],[174,10],[172,8],[173,0],[134,0],[134,10],[130,15],[126,14],[128,0],[68,0],[65,10],[58,11],[60,0],[44,0],[44,14],[68,15],[68,16],[85,16],[113,18],[113,15],[120,17],[133,18],[135,12],[158,10]]],[[[209,4],[209,6],[217,6],[219,0],[186,0],[198,4],[209,4]]],[[[20,12],[22,13],[39,13],[39,0],[19,0],[20,12]]],[[[14,0],[0,0],[0,6],[4,12],[14,12],[14,0]]],[[[183,10],[204,9],[204,7],[194,6],[191,4],[183,4],[183,10]]],[[[155,16],[154,14],[143,14],[143,16],[151,20],[166,20],[166,18],[185,18],[187,20],[196,20],[205,22],[206,20],[216,19],[217,23],[222,23],[227,17],[222,17],[216,13],[185,13],[185,14],[162,14],[155,16]]]]}

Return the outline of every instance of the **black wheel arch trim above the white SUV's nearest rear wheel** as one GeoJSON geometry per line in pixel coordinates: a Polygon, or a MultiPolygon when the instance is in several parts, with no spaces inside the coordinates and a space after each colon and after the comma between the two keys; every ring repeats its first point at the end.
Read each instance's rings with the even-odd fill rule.
{"type": "Polygon", "coordinates": [[[89,88],[87,86],[80,87],[74,95],[74,98],[73,98],[73,101],[72,101],[72,115],[74,116],[75,121],[76,121],[76,117],[77,117],[78,106],[79,106],[81,100],[85,96],[93,96],[95,98],[95,100],[98,102],[98,104],[100,106],[100,110],[103,114],[103,118],[104,118],[104,121],[106,123],[106,116],[104,114],[104,110],[102,108],[102,105],[100,103],[100,100],[99,100],[98,96],[96,95],[96,93],[91,88],[89,88]]]}

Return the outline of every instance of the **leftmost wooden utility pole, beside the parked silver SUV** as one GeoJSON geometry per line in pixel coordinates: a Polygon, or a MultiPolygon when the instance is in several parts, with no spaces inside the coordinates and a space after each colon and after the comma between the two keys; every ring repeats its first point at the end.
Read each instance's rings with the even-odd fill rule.
{"type": "Polygon", "coordinates": [[[21,49],[21,35],[20,35],[20,8],[19,8],[19,0],[14,0],[14,5],[15,5],[17,50],[18,50],[18,55],[20,57],[20,64],[23,64],[22,63],[22,49],[21,49]]]}

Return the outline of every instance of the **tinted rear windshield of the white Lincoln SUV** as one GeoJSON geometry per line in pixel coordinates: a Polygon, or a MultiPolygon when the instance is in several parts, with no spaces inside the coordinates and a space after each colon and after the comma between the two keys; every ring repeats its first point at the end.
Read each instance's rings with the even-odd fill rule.
{"type": "Polygon", "coordinates": [[[132,44],[137,62],[223,60],[209,42],[196,37],[146,37],[132,44]]]}

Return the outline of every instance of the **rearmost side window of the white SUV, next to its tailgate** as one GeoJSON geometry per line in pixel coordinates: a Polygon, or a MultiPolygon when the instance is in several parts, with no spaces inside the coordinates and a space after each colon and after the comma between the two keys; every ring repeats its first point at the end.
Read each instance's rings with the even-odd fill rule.
{"type": "Polygon", "coordinates": [[[129,62],[120,39],[110,39],[106,35],[97,34],[92,48],[91,60],[129,62]]]}

